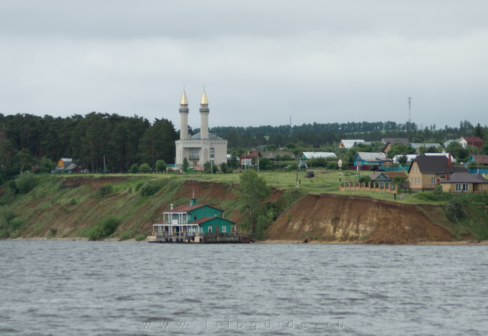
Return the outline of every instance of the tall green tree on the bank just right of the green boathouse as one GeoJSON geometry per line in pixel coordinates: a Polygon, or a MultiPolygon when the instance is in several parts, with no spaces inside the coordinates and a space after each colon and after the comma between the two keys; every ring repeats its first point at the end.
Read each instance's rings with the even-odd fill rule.
{"type": "Polygon", "coordinates": [[[248,216],[253,234],[256,231],[256,212],[261,206],[261,201],[271,195],[271,187],[256,171],[246,169],[239,176],[238,191],[241,213],[248,216]]]}

